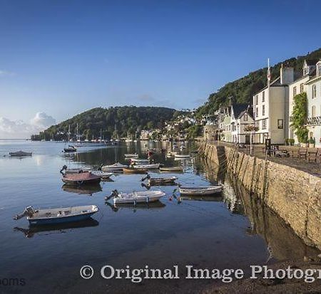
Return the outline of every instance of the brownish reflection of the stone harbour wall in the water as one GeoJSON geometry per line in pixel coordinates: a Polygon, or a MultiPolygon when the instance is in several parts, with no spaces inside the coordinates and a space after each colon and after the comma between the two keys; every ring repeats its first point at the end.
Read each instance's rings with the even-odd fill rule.
{"type": "Polygon", "coordinates": [[[267,261],[271,258],[278,261],[294,258],[303,260],[305,256],[317,256],[320,253],[316,248],[307,246],[264,201],[250,194],[240,182],[225,174],[222,167],[205,160],[201,160],[198,167],[209,181],[215,179],[224,183],[223,202],[233,214],[248,217],[250,226],[245,233],[258,234],[265,240],[267,261]]]}

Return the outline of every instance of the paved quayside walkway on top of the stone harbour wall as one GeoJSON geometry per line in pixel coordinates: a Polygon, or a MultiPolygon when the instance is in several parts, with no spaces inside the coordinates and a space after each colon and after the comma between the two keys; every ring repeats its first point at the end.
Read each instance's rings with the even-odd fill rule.
{"type": "MultiPolygon", "coordinates": [[[[228,142],[208,142],[210,144],[218,145],[218,146],[228,146],[236,148],[233,143],[228,142]]],[[[254,145],[254,152],[258,158],[265,158],[265,152],[263,151],[264,145],[254,145]]],[[[298,151],[307,149],[307,152],[318,152],[321,154],[320,148],[302,148],[297,146],[280,146],[279,149],[286,149],[290,153],[290,157],[274,157],[274,156],[267,156],[267,159],[271,162],[277,162],[280,164],[285,164],[289,167],[294,167],[296,169],[300,169],[303,172],[307,172],[309,174],[313,174],[317,177],[321,177],[321,164],[320,164],[320,157],[317,155],[317,162],[308,162],[306,159],[298,159],[292,157],[292,150],[298,151]]],[[[238,151],[244,152],[246,154],[250,154],[250,147],[247,146],[246,148],[238,148],[238,151]]]]}

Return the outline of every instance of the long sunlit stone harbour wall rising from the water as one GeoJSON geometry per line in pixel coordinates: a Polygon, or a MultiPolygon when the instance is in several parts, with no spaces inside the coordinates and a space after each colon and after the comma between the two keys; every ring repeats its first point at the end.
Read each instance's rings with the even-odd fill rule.
{"type": "Polygon", "coordinates": [[[307,245],[321,249],[320,177],[232,147],[202,143],[200,152],[263,199],[307,245]]]}

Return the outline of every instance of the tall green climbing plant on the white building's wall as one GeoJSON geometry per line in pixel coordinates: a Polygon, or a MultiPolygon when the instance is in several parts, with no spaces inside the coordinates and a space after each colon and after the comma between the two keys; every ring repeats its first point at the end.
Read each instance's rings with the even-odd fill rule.
{"type": "Polygon", "coordinates": [[[297,140],[301,143],[306,143],[308,137],[308,130],[305,125],[307,120],[307,93],[297,94],[293,100],[291,127],[295,130],[297,140]]]}

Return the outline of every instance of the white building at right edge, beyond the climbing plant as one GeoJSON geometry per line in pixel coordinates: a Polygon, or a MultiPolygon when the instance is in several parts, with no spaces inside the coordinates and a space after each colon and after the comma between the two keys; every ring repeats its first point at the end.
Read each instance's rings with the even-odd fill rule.
{"type": "Polygon", "coordinates": [[[315,65],[315,75],[306,83],[307,128],[309,138],[315,139],[315,146],[321,147],[321,61],[315,65]]]}

